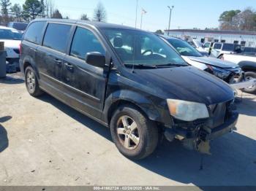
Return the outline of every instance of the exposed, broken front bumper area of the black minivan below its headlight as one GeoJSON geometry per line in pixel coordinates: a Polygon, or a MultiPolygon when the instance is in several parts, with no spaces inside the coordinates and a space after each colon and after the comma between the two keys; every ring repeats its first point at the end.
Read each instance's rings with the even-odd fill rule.
{"type": "Polygon", "coordinates": [[[195,122],[180,122],[173,120],[172,128],[165,129],[168,141],[178,139],[187,149],[210,155],[210,141],[236,130],[238,113],[231,111],[230,103],[211,106],[211,117],[195,122]]]}

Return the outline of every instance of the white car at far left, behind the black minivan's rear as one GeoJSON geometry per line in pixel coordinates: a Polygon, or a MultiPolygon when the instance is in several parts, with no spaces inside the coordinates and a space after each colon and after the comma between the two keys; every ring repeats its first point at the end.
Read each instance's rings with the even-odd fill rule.
{"type": "Polygon", "coordinates": [[[4,50],[7,52],[7,62],[16,70],[20,69],[20,43],[22,34],[14,28],[0,26],[0,42],[4,42],[4,50]]]}

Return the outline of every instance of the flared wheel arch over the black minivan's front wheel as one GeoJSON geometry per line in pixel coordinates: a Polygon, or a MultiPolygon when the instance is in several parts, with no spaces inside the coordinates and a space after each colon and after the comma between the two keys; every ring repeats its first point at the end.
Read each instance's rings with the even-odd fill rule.
{"type": "Polygon", "coordinates": [[[111,93],[105,100],[105,107],[102,114],[102,119],[105,122],[110,122],[110,114],[115,111],[119,104],[134,104],[153,121],[160,121],[162,118],[154,102],[146,98],[146,96],[132,90],[117,90],[111,93]]]}

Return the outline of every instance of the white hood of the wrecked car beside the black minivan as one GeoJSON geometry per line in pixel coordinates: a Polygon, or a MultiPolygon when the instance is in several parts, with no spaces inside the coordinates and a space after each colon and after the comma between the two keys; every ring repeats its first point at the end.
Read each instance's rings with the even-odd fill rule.
{"type": "Polygon", "coordinates": [[[230,69],[230,68],[237,68],[239,67],[236,63],[231,63],[228,61],[222,61],[221,59],[218,58],[211,58],[211,57],[189,57],[190,60],[200,62],[200,63],[205,63],[211,66],[217,66],[222,69],[230,69]]]}

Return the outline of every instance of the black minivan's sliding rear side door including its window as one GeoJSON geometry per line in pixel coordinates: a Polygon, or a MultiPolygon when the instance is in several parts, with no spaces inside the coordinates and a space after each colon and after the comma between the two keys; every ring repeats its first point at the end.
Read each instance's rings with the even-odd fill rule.
{"type": "Polygon", "coordinates": [[[57,93],[56,91],[61,88],[62,68],[71,28],[69,24],[49,23],[42,46],[37,49],[42,87],[52,93],[57,93]]]}

